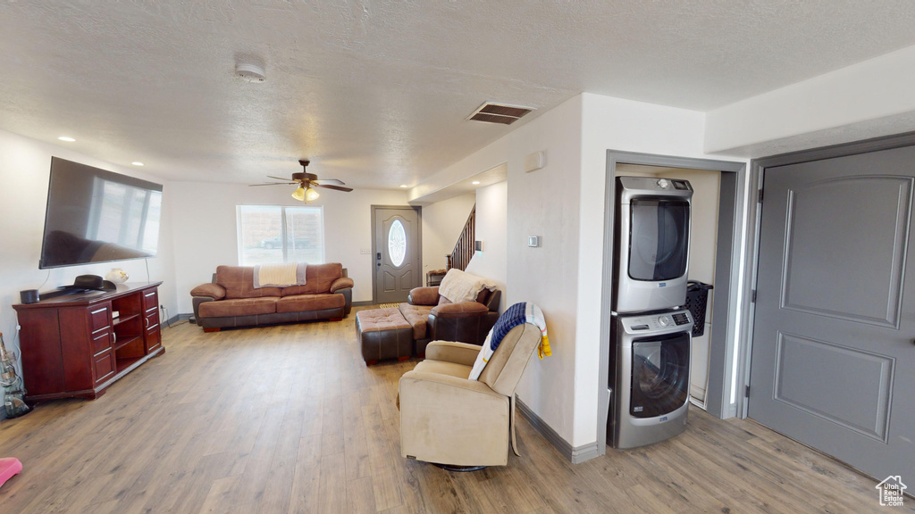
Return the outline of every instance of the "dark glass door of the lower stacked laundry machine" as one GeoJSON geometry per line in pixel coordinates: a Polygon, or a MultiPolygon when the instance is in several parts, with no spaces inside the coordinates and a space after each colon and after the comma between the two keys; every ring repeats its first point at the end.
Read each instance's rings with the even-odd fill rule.
{"type": "Polygon", "coordinates": [[[652,418],[684,405],[689,394],[688,332],[632,342],[630,414],[652,418]]]}

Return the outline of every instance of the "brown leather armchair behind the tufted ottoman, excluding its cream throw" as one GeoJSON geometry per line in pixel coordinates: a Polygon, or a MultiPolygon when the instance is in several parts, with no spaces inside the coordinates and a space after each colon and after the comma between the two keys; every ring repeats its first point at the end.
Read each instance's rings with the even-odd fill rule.
{"type": "Polygon", "coordinates": [[[482,345],[499,319],[501,291],[483,289],[474,302],[452,304],[438,294],[438,286],[416,287],[407,303],[398,305],[413,327],[414,350],[425,356],[429,341],[445,340],[482,345]]]}

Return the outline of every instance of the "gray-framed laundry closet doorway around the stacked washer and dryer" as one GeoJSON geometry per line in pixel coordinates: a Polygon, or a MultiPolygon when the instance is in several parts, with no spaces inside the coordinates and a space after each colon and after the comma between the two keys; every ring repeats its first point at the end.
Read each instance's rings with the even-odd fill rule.
{"type": "MultiPolygon", "coordinates": [[[[747,191],[747,165],[743,162],[694,159],[669,155],[607,152],[604,220],[603,300],[600,340],[600,377],[609,373],[610,298],[612,297],[614,201],[616,177],[678,178],[693,184],[693,228],[688,278],[714,285],[709,295],[705,334],[694,337],[690,396],[692,402],[719,418],[737,414],[734,384],[741,370],[737,340],[739,264],[743,246],[743,199],[747,191]],[[714,294],[714,295],[713,295],[714,294]]],[[[606,381],[606,380],[605,380],[606,381]]],[[[607,442],[610,393],[598,392],[597,442],[603,453],[607,442]]]]}

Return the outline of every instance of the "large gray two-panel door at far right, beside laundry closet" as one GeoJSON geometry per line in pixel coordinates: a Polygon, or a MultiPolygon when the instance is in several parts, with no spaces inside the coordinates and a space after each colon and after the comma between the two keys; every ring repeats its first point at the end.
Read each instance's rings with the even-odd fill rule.
{"type": "Polygon", "coordinates": [[[915,480],[915,147],[764,177],[749,417],[915,480]]]}

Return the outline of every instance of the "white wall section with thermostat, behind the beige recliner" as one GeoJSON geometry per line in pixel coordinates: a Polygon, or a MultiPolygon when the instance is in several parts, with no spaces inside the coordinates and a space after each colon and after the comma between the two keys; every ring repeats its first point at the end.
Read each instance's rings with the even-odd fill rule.
{"type": "Polygon", "coordinates": [[[581,97],[509,134],[508,286],[505,305],[533,302],[546,317],[553,356],[533,358],[518,397],[569,443],[576,444],[580,244],[581,97]],[[546,165],[525,173],[523,159],[544,151],[546,165]],[[540,246],[527,246],[538,236],[540,246]]]}

